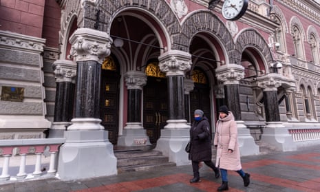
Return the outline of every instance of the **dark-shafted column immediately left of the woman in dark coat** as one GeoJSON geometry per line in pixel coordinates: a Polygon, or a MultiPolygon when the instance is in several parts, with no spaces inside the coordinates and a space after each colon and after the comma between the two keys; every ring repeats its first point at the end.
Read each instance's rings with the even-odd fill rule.
{"type": "Polygon", "coordinates": [[[189,141],[190,125],[184,114],[184,72],[191,68],[191,54],[171,50],[159,56],[159,67],[167,75],[169,120],[161,130],[156,150],[177,165],[190,164],[184,147],[189,141]]]}

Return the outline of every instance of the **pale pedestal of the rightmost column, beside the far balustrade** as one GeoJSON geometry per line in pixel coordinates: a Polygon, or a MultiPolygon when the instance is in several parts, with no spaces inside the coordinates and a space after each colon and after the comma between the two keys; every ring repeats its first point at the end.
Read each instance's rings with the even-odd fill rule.
{"type": "Polygon", "coordinates": [[[282,122],[267,122],[261,140],[266,142],[279,151],[296,151],[297,145],[292,140],[288,128],[282,122]]]}

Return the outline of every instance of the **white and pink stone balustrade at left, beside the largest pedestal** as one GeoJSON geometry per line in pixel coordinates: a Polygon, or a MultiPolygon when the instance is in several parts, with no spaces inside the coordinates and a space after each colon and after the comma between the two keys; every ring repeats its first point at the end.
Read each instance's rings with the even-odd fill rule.
{"type": "Polygon", "coordinates": [[[65,138],[0,140],[0,184],[56,176],[56,158],[64,142],[65,138]],[[50,157],[46,160],[48,169],[41,160],[43,156],[50,157]]]}

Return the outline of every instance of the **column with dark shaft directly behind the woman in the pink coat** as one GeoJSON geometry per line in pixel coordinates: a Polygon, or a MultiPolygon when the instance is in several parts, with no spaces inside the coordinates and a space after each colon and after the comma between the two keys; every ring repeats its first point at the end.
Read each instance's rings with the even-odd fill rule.
{"type": "Polygon", "coordinates": [[[241,156],[259,154],[259,147],[255,144],[250,129],[244,125],[241,118],[241,107],[239,98],[239,81],[244,78],[244,67],[237,64],[228,64],[217,67],[216,77],[224,83],[224,100],[228,108],[233,112],[237,122],[238,142],[241,156]]]}

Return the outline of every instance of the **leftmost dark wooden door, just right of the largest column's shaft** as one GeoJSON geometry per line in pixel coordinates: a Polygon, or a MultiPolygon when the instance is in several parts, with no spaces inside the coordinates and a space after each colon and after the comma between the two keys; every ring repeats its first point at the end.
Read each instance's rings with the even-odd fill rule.
{"type": "Polygon", "coordinates": [[[102,70],[100,90],[101,125],[109,131],[109,140],[116,145],[119,132],[119,83],[117,72],[102,70]]]}

